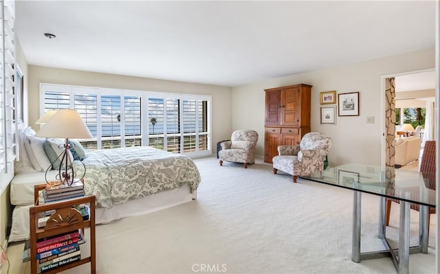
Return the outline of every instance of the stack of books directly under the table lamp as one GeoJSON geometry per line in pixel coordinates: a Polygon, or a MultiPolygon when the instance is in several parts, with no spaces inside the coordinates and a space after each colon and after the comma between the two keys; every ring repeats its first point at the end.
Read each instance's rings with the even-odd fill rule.
{"type": "Polygon", "coordinates": [[[67,183],[47,183],[43,190],[45,203],[54,203],[72,198],[84,197],[84,185],[81,181],[67,185],[67,183]]]}

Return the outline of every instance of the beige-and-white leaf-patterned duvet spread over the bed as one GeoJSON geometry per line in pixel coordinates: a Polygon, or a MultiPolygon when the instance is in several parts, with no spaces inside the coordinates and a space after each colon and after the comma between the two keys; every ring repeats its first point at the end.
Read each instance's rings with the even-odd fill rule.
{"type": "MultiPolygon", "coordinates": [[[[172,190],[188,184],[190,191],[200,183],[195,163],[184,155],[148,146],[87,152],[85,193],[96,196],[96,207],[113,207],[129,200],[172,190]]],[[[84,166],[74,161],[78,176],[84,166]]]]}

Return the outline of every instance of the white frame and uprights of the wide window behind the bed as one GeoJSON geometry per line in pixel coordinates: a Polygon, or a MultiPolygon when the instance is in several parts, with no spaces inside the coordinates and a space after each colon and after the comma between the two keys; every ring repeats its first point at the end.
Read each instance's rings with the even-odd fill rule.
{"type": "MultiPolygon", "coordinates": [[[[184,152],[183,144],[181,142],[181,150],[180,153],[187,155],[188,157],[203,157],[211,155],[212,153],[212,146],[211,146],[211,139],[212,139],[212,96],[210,95],[195,95],[195,94],[184,94],[184,93],[163,93],[163,92],[157,92],[157,91],[136,91],[136,90],[129,90],[129,89],[110,89],[110,88],[101,88],[101,87],[84,87],[84,86],[72,86],[72,85],[63,85],[63,84],[50,84],[50,83],[40,83],[40,117],[44,115],[45,113],[45,92],[46,91],[60,91],[69,93],[70,95],[70,108],[74,109],[74,95],[75,94],[96,94],[98,95],[97,105],[96,109],[100,110],[100,96],[101,95],[126,95],[126,96],[136,96],[141,98],[141,113],[142,113],[142,125],[141,125],[141,137],[142,137],[142,146],[148,146],[148,123],[149,123],[149,117],[148,117],[148,98],[161,98],[166,102],[166,100],[170,99],[177,99],[179,100],[180,104],[182,104],[182,100],[202,100],[202,101],[208,101],[208,113],[207,113],[207,133],[203,133],[201,135],[208,135],[208,141],[207,141],[207,149],[206,150],[198,150],[198,146],[196,146],[196,150],[194,152],[184,152]]],[[[123,102],[123,100],[121,100],[123,102]]],[[[124,146],[124,135],[122,134],[122,131],[124,130],[124,119],[123,119],[123,109],[124,106],[121,104],[121,146],[124,146]]],[[[166,111],[166,108],[164,108],[164,111],[166,111]]],[[[180,110],[183,111],[182,109],[180,110]]],[[[196,115],[197,117],[197,115],[196,115]]],[[[183,115],[181,115],[181,122],[183,122],[183,115]]],[[[100,111],[98,111],[98,117],[97,117],[97,124],[100,124],[100,111]]],[[[101,127],[98,126],[97,128],[97,146],[98,149],[101,149],[102,144],[102,137],[101,137],[101,127]]],[[[166,131],[166,130],[165,130],[166,131]]],[[[166,146],[166,132],[164,133],[164,145],[166,146]]],[[[183,131],[180,133],[181,140],[184,139],[183,131]]],[[[195,132],[196,140],[198,144],[199,140],[199,131],[196,126],[196,132],[195,132]]]]}

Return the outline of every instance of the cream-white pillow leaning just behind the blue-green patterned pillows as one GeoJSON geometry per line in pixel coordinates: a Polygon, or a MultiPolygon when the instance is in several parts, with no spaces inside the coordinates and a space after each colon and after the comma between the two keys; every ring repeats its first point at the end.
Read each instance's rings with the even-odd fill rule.
{"type": "Polygon", "coordinates": [[[45,140],[45,138],[26,136],[25,148],[28,151],[32,166],[39,172],[45,172],[51,165],[43,147],[45,140]]]}

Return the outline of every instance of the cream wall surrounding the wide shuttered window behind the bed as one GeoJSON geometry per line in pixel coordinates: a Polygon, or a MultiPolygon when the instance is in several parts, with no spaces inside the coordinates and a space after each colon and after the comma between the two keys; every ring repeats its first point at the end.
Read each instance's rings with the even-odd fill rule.
{"type": "Polygon", "coordinates": [[[217,141],[230,139],[232,130],[232,89],[208,84],[192,84],[168,80],[120,76],[107,73],[29,66],[29,125],[37,130],[39,119],[39,84],[71,84],[86,87],[133,89],[137,91],[161,91],[167,93],[191,93],[212,96],[212,152],[217,141]]]}

